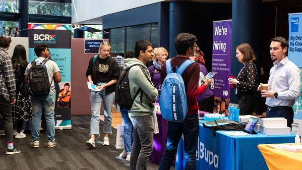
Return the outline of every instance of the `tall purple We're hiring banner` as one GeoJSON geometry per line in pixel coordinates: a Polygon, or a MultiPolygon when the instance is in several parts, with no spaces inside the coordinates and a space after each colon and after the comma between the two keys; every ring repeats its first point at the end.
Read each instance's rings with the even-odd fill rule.
{"type": "Polygon", "coordinates": [[[214,76],[214,88],[212,89],[214,100],[214,112],[226,113],[230,98],[228,77],[231,74],[231,47],[232,47],[232,21],[213,22],[213,54],[212,72],[214,76]]]}

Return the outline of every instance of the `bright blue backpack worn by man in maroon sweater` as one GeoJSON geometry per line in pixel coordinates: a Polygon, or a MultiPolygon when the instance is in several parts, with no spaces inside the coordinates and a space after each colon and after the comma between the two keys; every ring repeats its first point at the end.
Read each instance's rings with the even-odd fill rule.
{"type": "Polygon", "coordinates": [[[193,63],[186,60],[179,68],[173,66],[176,67],[176,73],[173,73],[171,59],[166,61],[167,76],[161,86],[159,106],[162,117],[167,121],[182,122],[187,116],[188,101],[182,74],[193,63]]]}

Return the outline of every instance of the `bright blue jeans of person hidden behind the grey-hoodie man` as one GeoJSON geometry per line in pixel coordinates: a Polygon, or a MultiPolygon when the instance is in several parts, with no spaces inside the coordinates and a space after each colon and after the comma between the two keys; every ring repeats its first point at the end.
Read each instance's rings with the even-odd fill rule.
{"type": "Polygon", "coordinates": [[[133,126],[128,115],[127,109],[120,109],[124,122],[124,148],[128,154],[131,153],[131,146],[133,143],[133,126]]]}

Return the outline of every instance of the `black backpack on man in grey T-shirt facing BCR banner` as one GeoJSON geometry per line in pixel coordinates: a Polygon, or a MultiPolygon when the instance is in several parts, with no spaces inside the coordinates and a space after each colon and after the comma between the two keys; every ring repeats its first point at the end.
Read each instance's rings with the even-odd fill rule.
{"type": "Polygon", "coordinates": [[[28,93],[31,96],[45,96],[50,91],[50,86],[52,83],[49,83],[47,68],[45,66],[46,62],[49,59],[44,59],[42,63],[37,65],[37,62],[31,62],[31,68],[29,69],[29,84],[27,86],[28,93]]]}

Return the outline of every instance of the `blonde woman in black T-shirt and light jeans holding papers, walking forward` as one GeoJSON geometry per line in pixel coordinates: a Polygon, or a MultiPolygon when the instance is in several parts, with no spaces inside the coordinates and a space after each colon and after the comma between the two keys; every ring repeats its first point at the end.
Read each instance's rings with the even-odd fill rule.
{"type": "Polygon", "coordinates": [[[91,148],[95,148],[95,136],[100,135],[100,109],[101,101],[104,103],[104,128],[105,133],[103,145],[109,145],[108,135],[111,131],[111,108],[115,96],[115,84],[119,76],[119,68],[114,59],[109,56],[111,46],[103,41],[99,47],[98,55],[90,59],[86,72],[86,77],[91,84],[98,86],[100,91],[91,90],[91,121],[90,121],[90,139],[86,142],[91,148]],[[97,58],[95,60],[95,57],[97,58]]]}

